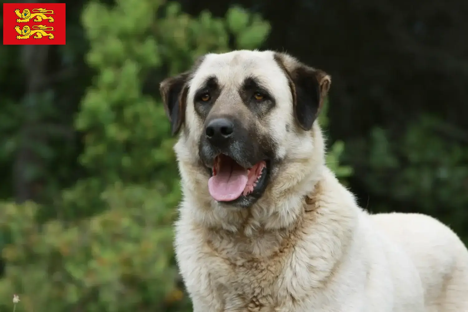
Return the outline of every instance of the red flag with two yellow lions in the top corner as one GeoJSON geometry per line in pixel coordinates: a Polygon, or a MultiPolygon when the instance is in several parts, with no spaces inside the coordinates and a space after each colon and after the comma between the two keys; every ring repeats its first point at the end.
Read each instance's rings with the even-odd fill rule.
{"type": "Polygon", "coordinates": [[[3,44],[65,44],[65,3],[4,3],[3,44]]]}

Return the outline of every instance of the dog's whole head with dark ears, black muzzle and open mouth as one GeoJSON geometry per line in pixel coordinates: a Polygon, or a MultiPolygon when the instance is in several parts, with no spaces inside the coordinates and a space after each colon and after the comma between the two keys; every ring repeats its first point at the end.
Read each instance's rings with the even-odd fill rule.
{"type": "Polygon", "coordinates": [[[273,51],[207,54],[164,80],[184,189],[223,207],[287,196],[322,161],[314,121],[329,86],[323,71],[273,51]]]}

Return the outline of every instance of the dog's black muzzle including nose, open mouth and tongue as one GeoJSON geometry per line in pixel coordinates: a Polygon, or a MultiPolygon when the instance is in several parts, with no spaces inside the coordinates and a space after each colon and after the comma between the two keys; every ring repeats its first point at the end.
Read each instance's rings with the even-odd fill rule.
{"type": "Polygon", "coordinates": [[[235,117],[206,121],[201,158],[211,169],[208,190],[216,201],[248,206],[266,187],[270,162],[251,133],[235,117]]]}

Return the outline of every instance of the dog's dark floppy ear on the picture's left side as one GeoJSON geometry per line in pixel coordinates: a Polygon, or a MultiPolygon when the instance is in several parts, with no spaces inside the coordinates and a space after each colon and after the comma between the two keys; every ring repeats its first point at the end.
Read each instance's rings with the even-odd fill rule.
{"type": "Polygon", "coordinates": [[[184,122],[189,77],[190,72],[181,73],[175,77],[166,78],[159,87],[164,109],[171,122],[172,135],[179,132],[184,122]]]}

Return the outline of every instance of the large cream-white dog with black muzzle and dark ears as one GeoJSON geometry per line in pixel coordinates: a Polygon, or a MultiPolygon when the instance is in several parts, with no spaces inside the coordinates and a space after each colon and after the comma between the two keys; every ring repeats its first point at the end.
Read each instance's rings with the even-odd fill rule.
{"type": "Polygon", "coordinates": [[[161,82],[194,312],[468,312],[457,235],[421,214],[368,214],[326,167],[330,84],[286,53],[246,50],[161,82]]]}

